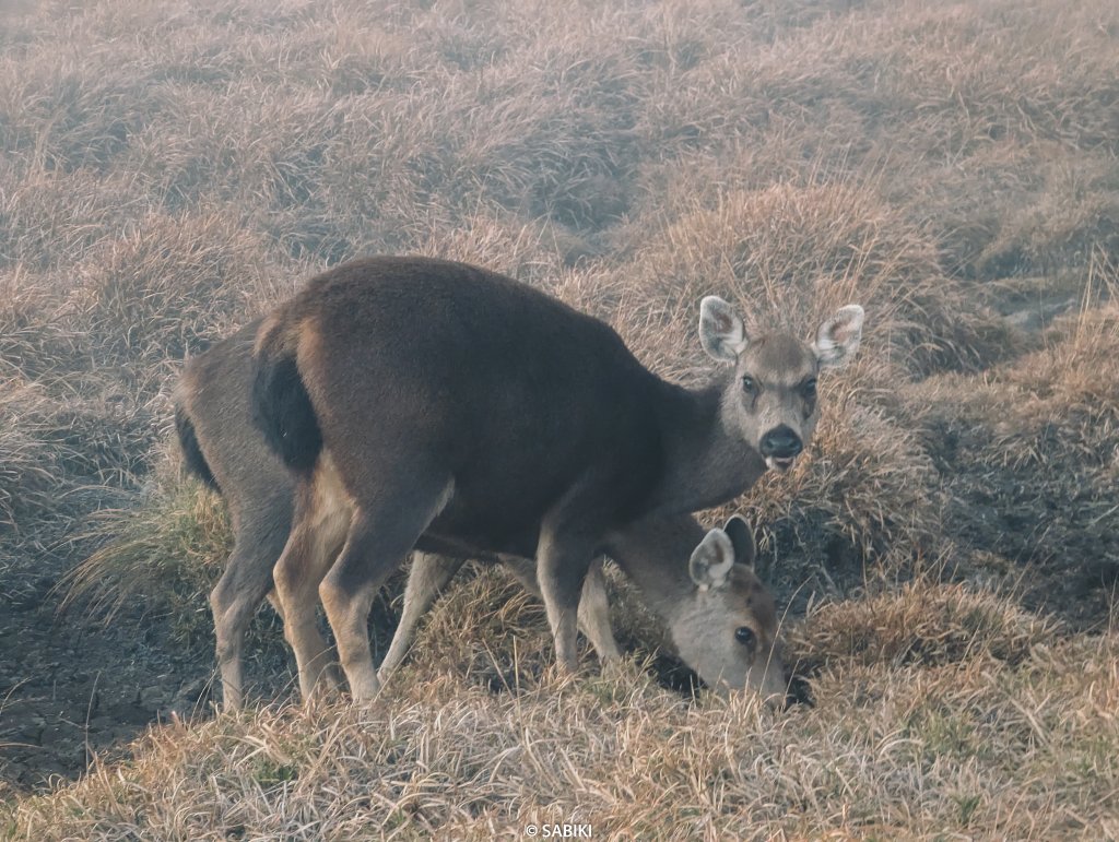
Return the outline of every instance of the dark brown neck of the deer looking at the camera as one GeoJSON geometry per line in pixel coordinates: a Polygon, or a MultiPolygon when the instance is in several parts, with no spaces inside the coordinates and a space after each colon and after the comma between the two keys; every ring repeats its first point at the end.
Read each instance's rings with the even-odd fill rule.
{"type": "Polygon", "coordinates": [[[733,500],[765,473],[765,461],[723,418],[727,378],[699,389],[664,384],[660,434],[665,454],[652,513],[694,512],[733,500]]]}

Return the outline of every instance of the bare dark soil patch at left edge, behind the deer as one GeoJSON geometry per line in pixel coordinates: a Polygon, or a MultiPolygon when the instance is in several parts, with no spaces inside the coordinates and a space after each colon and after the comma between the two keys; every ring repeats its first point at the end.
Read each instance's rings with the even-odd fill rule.
{"type": "Polygon", "coordinates": [[[0,595],[0,793],[76,778],[95,756],[208,698],[207,657],[168,646],[158,619],[105,627],[58,615],[51,589],[66,562],[45,561],[34,589],[0,595]]]}

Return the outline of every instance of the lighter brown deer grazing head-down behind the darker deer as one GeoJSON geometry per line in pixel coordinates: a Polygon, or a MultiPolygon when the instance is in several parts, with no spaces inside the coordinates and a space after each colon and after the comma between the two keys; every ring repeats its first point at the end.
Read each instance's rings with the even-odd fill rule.
{"type": "MultiPolygon", "coordinates": [[[[233,528],[233,550],[209,597],[226,710],[244,703],[242,652],[252,616],[267,598],[284,618],[272,568],[291,532],[295,500],[294,479],[251,422],[251,352],[260,322],[251,322],[191,358],[175,390],[175,423],[186,469],[225,499],[233,528]]],[[[335,522],[347,517],[344,512],[335,522]]],[[[323,552],[337,556],[344,537],[340,530],[332,534],[325,530],[320,536],[323,552]]],[[[724,530],[705,532],[690,517],[666,518],[641,524],[619,541],[618,558],[628,565],[655,611],[667,618],[669,638],[686,662],[716,689],[753,687],[763,698],[781,698],[786,681],[775,649],[775,608],[753,574],[753,534],[745,521],[734,518],[724,530]],[[734,564],[727,566],[731,559],[734,564]],[[692,588],[679,575],[686,569],[692,588]],[[680,595],[689,589],[696,592],[696,599],[681,600],[680,595]],[[720,607],[720,599],[730,611],[720,607]],[[708,614],[728,624],[714,642],[705,638],[706,625],[695,619],[708,614]]],[[[542,597],[532,559],[495,554],[478,558],[504,565],[525,589],[542,597]]],[[[380,664],[382,680],[404,660],[420,621],[466,561],[461,554],[414,554],[401,619],[380,664]]],[[[621,660],[610,625],[601,558],[592,564],[583,584],[579,626],[604,665],[621,660]]],[[[319,679],[325,687],[338,687],[332,647],[317,628],[305,634],[319,679]]]]}

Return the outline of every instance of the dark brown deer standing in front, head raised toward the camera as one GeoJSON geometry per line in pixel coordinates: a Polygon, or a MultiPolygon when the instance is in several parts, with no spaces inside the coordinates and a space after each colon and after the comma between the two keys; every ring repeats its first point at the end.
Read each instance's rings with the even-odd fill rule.
{"type": "MultiPolygon", "coordinates": [[[[862,323],[852,305],[815,344],[752,339],[731,305],[706,297],[702,344],[733,369],[688,390],[641,366],[603,322],[486,269],[377,257],[312,278],[261,325],[252,396],[255,424],[297,476],[273,577],[304,698],[318,674],[316,596],[350,692],[368,699],[379,688],[374,596],[432,542],[535,557],[557,662],[574,671],[596,554],[618,552],[619,534],[640,541],[641,521],[788,470],[816,425],[817,373],[856,350],[862,323]],[[326,531],[345,533],[337,558],[326,531]]],[[[744,600],[735,576],[680,584],[681,600],[693,589],[744,600]]],[[[723,619],[705,618],[708,645],[721,645],[706,630],[723,619]]]]}

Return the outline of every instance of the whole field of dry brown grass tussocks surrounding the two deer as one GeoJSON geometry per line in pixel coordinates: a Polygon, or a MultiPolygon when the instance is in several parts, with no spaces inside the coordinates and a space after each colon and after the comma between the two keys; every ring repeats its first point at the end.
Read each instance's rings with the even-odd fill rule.
{"type": "Polygon", "coordinates": [[[0,0],[0,835],[1119,838],[1115,0],[0,0]],[[614,571],[632,665],[556,679],[481,569],[365,709],[291,704],[262,611],[215,715],[176,372],[372,253],[681,380],[704,294],[864,304],[808,458],[704,514],[803,703],[693,697],[614,571]]]}

